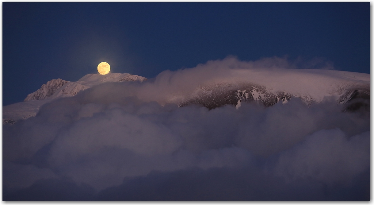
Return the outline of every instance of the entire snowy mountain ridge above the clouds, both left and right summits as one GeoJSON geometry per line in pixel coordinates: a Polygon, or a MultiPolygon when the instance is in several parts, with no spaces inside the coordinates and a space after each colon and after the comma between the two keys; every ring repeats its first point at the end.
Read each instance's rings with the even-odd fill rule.
{"type": "MultiPolygon", "coordinates": [[[[201,104],[212,109],[227,104],[239,108],[244,102],[269,107],[280,101],[286,103],[291,98],[300,98],[310,105],[312,102],[321,102],[325,97],[335,97],[338,104],[347,105],[347,110],[361,107],[370,110],[370,74],[317,69],[231,69],[225,70],[224,75],[198,77],[189,73],[184,75],[183,72],[178,73],[176,76],[180,79],[176,78],[174,81],[186,81],[188,85],[168,84],[168,88],[172,88],[171,92],[157,88],[160,92],[156,89],[154,93],[162,102],[153,99],[154,97],[148,98],[160,104],[174,103],[179,107],[201,104]]],[[[156,81],[161,78],[162,76],[157,76],[156,81]]],[[[145,80],[147,79],[144,77],[128,73],[88,74],[77,82],[50,80],[29,94],[24,102],[4,106],[3,124],[12,124],[19,119],[35,116],[41,105],[56,98],[74,96],[103,82],[145,80]]],[[[170,83],[173,80],[166,81],[170,83]]],[[[149,84],[157,87],[157,83],[149,84]]]]}

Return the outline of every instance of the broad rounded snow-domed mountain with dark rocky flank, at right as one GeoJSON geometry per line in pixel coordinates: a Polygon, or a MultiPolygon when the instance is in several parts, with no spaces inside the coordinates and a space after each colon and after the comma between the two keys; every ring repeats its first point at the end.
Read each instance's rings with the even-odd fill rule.
{"type": "Polygon", "coordinates": [[[200,85],[180,102],[202,104],[209,109],[226,104],[240,107],[243,102],[255,102],[269,107],[292,97],[305,104],[321,102],[325,97],[336,97],[338,104],[347,104],[349,110],[370,106],[370,74],[336,70],[234,69],[229,78],[200,85]]]}

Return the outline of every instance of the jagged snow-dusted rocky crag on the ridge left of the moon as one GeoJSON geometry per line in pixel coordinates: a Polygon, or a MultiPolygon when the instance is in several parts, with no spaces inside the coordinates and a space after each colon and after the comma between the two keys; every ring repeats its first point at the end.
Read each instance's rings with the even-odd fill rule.
{"type": "Polygon", "coordinates": [[[24,101],[29,100],[44,100],[47,97],[53,95],[58,89],[64,86],[69,81],[61,80],[61,79],[53,79],[48,81],[46,84],[43,84],[42,87],[31,93],[28,94],[24,101]]]}

